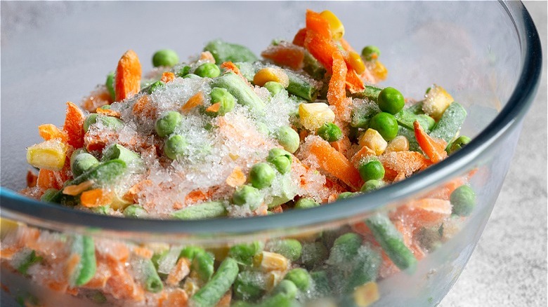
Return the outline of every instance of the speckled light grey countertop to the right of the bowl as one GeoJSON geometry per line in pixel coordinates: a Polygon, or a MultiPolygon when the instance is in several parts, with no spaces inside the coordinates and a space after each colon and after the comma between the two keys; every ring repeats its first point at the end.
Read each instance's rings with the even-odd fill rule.
{"type": "Polygon", "coordinates": [[[547,2],[525,5],[542,41],[540,88],[485,231],[443,307],[547,306],[547,2]]]}

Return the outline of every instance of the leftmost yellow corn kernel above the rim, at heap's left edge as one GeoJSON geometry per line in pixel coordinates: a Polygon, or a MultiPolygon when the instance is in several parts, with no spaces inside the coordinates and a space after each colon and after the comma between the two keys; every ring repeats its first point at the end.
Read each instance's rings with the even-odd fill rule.
{"type": "Polygon", "coordinates": [[[34,168],[61,170],[65,165],[67,146],[59,139],[50,139],[27,148],[27,163],[34,168]]]}

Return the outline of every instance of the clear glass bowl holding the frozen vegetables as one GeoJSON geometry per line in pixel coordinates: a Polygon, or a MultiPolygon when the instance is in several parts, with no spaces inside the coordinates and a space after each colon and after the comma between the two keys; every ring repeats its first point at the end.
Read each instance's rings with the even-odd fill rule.
{"type": "MultiPolygon", "coordinates": [[[[9,8],[34,16],[34,25],[39,27],[32,28],[31,24],[17,29],[12,27],[14,23],[6,25],[11,31],[8,35],[3,32],[3,219],[18,221],[20,228],[58,233],[60,238],[78,233],[91,236],[96,243],[130,248],[138,244],[156,249],[200,245],[221,259],[228,247],[236,243],[285,237],[297,238],[308,247],[321,244],[328,250],[334,238],[348,231],[360,233],[364,244],[374,246],[363,221],[377,213],[388,214],[396,224],[398,219],[402,221],[398,227],[407,240],[412,236],[408,245],[419,261],[414,271],[399,271],[384,259],[376,280],[380,299],[374,306],[435,306],[455,283],[495,204],[523,116],[540,81],[540,41],[528,12],[516,1],[12,5],[9,8]],[[205,41],[222,37],[259,53],[272,38],[291,38],[304,24],[306,8],[337,13],[346,27],[346,39],[353,46],[379,46],[381,58],[389,68],[384,86],[394,86],[407,97],[420,98],[431,83],[443,85],[469,112],[461,132],[473,137],[473,141],[442,163],[379,191],[333,205],[268,217],[207,221],[121,219],[39,203],[15,193],[24,187],[25,146],[39,141],[37,125],[61,123],[63,102],[78,101],[81,95],[89,93],[103,81],[105,72],[112,70],[124,50],[133,48],[138,54],[152,55],[159,48],[169,47],[181,55],[192,55],[205,41]],[[46,14],[51,18],[44,18],[46,14]],[[469,217],[445,217],[441,230],[440,223],[429,229],[405,225],[414,214],[410,204],[424,198],[448,198],[450,186],[455,186],[455,182],[462,184],[464,177],[469,178],[477,196],[469,217]]],[[[2,11],[4,22],[4,4],[2,11]]],[[[3,228],[4,240],[8,227],[3,228]]],[[[63,245],[59,248],[66,249],[63,245]]],[[[5,257],[3,251],[1,283],[12,298],[32,294],[44,306],[94,304],[95,290],[53,290],[51,284],[44,283],[48,268],[42,268],[32,279],[24,278],[10,268],[5,257]]],[[[301,262],[302,257],[295,261],[301,262]]],[[[313,271],[330,273],[332,291],[320,300],[338,306],[352,305],[353,294],[341,291],[351,272],[335,272],[324,262],[308,265],[313,271]]],[[[270,278],[280,278],[279,274],[269,274],[270,278]]],[[[308,303],[302,300],[304,305],[318,306],[318,289],[313,288],[308,294],[314,296],[308,303]]],[[[149,301],[139,303],[110,295],[106,299],[113,306],[155,304],[151,299],[154,295],[147,295],[149,301]]],[[[2,296],[3,306],[14,303],[6,297],[2,296]]]]}

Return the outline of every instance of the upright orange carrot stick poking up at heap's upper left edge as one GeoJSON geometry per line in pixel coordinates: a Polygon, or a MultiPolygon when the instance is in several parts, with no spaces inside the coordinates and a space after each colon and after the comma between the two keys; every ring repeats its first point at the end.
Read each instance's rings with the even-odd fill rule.
{"type": "Polygon", "coordinates": [[[115,74],[116,101],[122,101],[141,90],[141,62],[133,50],[127,50],[118,61],[115,74]]]}

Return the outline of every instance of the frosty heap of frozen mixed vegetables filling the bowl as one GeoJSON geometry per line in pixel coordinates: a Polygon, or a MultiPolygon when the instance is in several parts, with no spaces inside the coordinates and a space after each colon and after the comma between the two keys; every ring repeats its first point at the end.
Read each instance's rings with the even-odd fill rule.
{"type": "MultiPolygon", "coordinates": [[[[466,111],[441,86],[418,102],[376,86],[387,76],[380,55],[375,46],[355,52],[330,11],[307,11],[306,27],[273,41],[263,60],[216,40],[187,63],[159,50],[142,75],[129,50],[84,111],[67,102],[62,128],[39,126],[44,142],[27,149],[39,172],[21,193],[129,218],[280,214],[369,193],[470,142],[458,135],[466,111]]],[[[472,175],[350,227],[207,249],[3,225],[1,261],[96,303],[317,306],[341,297],[341,306],[369,306],[378,280],[412,273],[471,214],[472,175]]]]}

